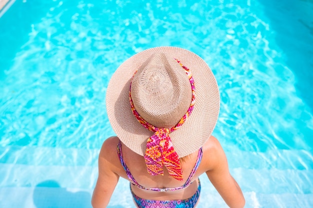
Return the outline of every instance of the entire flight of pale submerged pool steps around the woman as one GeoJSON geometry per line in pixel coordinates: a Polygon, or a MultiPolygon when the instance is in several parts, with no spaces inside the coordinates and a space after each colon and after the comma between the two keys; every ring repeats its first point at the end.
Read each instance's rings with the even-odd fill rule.
{"type": "MultiPolygon", "coordinates": [[[[47,196],[58,199],[58,193],[73,199],[58,199],[67,203],[67,207],[80,199],[89,202],[97,177],[98,152],[97,149],[0,147],[0,208],[47,208],[43,206],[44,202],[49,202],[47,196]],[[16,197],[23,200],[6,201],[16,197]],[[25,203],[16,204],[22,202],[25,203]]],[[[234,151],[226,155],[230,172],[244,192],[246,208],[313,207],[311,153],[304,150],[234,151]]],[[[206,196],[201,196],[202,206],[199,207],[226,208],[206,176],[200,178],[202,193],[206,196]]],[[[128,186],[121,179],[109,207],[133,207],[128,186]],[[121,190],[124,193],[120,193],[121,190]]],[[[78,208],[89,208],[89,205],[80,205],[78,208]]]]}

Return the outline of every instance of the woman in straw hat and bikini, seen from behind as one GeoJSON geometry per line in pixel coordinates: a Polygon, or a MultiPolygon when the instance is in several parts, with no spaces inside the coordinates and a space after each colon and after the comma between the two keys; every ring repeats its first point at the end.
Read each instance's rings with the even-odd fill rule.
{"type": "Polygon", "coordinates": [[[119,177],[130,182],[138,208],[192,208],[203,173],[230,208],[244,206],[225,154],[211,136],[219,92],[199,56],[177,47],[135,54],[113,74],[106,108],[117,137],[101,147],[93,208],[107,206],[119,177]]]}

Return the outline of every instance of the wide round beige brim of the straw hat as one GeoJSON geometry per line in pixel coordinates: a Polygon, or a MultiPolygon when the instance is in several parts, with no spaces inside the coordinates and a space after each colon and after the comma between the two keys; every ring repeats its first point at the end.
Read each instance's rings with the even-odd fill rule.
{"type": "Polygon", "coordinates": [[[197,151],[210,137],[219,113],[219,91],[209,66],[195,53],[183,48],[162,46],[141,51],[123,62],[112,75],[106,91],[109,122],[120,141],[143,156],[153,133],[133,116],[129,104],[129,84],[133,73],[153,53],[165,52],[190,69],[195,84],[195,104],[191,115],[170,133],[178,157],[197,151]]]}

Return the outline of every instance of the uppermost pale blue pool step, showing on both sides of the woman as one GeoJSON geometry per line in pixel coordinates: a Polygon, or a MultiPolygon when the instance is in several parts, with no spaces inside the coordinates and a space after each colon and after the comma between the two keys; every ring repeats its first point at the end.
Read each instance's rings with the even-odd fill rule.
{"type": "MultiPolygon", "coordinates": [[[[113,151],[113,150],[112,150],[113,151]]],[[[312,153],[306,150],[267,152],[225,152],[229,168],[313,169],[312,153]]],[[[51,148],[36,146],[0,147],[0,163],[42,166],[97,166],[98,149],[51,148]]]]}

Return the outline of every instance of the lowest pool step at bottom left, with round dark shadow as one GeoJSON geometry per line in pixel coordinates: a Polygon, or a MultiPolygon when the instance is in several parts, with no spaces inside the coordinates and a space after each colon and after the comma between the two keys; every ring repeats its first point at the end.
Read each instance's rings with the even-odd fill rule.
{"type": "MultiPolygon", "coordinates": [[[[54,180],[36,187],[0,187],[0,208],[91,208],[92,192],[93,189],[64,188],[54,180]]],[[[129,183],[120,179],[107,208],[133,207],[129,183]]]]}

